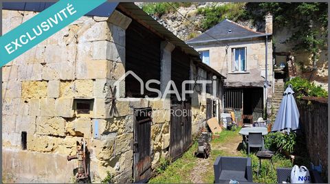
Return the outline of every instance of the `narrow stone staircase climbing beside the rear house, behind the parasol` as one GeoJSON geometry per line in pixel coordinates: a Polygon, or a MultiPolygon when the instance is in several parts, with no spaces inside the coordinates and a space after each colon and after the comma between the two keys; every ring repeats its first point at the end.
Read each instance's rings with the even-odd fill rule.
{"type": "Polygon", "coordinates": [[[277,115],[278,108],[280,108],[280,104],[282,101],[283,93],[284,93],[284,82],[283,80],[278,80],[274,85],[275,92],[272,97],[272,122],[275,122],[275,118],[277,115]]]}

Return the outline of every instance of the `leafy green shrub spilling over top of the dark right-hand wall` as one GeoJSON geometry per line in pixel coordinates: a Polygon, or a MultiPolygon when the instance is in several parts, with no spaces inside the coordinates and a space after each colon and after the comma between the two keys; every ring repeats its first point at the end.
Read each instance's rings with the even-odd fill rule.
{"type": "Polygon", "coordinates": [[[285,86],[287,87],[289,84],[292,85],[295,95],[298,98],[303,96],[328,97],[327,91],[322,89],[320,86],[316,86],[316,84],[311,83],[304,78],[292,78],[292,80],[289,80],[285,83],[285,86]]]}

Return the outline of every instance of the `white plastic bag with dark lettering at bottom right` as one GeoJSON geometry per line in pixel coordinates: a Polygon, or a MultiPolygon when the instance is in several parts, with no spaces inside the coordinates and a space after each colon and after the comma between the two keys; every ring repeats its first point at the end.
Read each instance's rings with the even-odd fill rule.
{"type": "Polygon", "coordinates": [[[291,183],[311,183],[309,170],[305,166],[294,165],[291,171],[291,183]]]}

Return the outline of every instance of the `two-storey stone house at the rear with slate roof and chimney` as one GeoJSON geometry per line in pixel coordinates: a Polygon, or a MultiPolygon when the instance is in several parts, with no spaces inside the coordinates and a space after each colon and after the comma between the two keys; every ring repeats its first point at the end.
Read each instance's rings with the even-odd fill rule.
{"type": "Polygon", "coordinates": [[[239,122],[264,117],[266,107],[267,115],[272,113],[272,15],[265,25],[265,32],[255,32],[225,19],[186,42],[226,77],[223,107],[234,111],[239,122]]]}

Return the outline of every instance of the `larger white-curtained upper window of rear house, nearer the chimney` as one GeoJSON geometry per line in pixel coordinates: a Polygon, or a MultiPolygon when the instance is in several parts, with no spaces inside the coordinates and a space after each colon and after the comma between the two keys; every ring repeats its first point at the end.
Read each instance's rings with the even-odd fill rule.
{"type": "Polygon", "coordinates": [[[232,71],[246,71],[246,49],[232,49],[232,71]]]}

